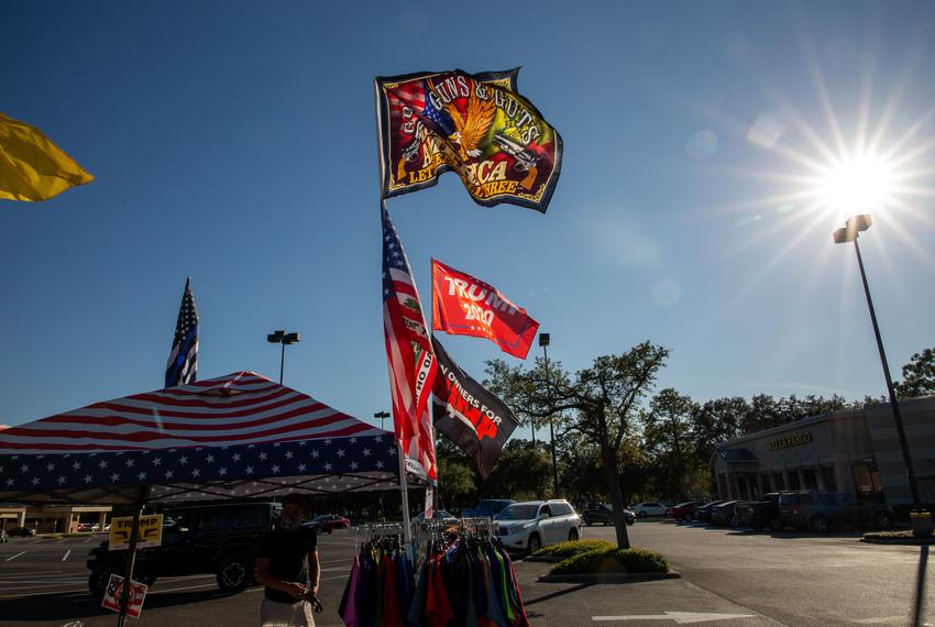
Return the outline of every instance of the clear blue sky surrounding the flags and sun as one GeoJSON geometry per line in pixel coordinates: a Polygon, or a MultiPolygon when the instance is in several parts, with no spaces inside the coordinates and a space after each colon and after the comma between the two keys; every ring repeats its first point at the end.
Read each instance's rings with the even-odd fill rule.
{"type": "MultiPolygon", "coordinates": [[[[564,140],[547,215],[453,174],[394,198],[429,260],[499,287],[572,370],[651,340],[696,400],[884,392],[843,213],[817,173],[862,143],[898,191],[861,250],[891,369],[935,344],[931,2],[12,1],[0,112],[97,179],[0,201],[0,422],[161,387],[186,276],[201,378],[389,407],[372,80],[522,66],[564,140]]],[[[428,302],[424,300],[428,308],[428,302]]],[[[443,338],[475,376],[514,358],[443,338]]],[[[538,351],[538,349],[534,349],[538,351]]]]}

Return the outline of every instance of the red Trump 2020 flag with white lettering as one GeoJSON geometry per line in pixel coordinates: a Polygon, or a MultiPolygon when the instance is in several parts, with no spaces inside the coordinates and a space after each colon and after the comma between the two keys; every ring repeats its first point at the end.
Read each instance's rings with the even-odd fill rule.
{"type": "Polygon", "coordinates": [[[539,322],[496,287],[432,260],[432,329],[487,338],[503,352],[525,360],[539,322]]]}

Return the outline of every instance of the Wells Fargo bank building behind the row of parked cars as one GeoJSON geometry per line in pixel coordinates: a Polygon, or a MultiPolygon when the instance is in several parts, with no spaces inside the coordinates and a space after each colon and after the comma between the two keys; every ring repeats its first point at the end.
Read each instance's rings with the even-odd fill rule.
{"type": "MultiPolygon", "coordinates": [[[[920,498],[935,503],[935,396],[900,402],[920,498]]],[[[721,442],[712,458],[724,499],[782,490],[845,492],[912,503],[890,404],[814,416],[721,442]]]]}

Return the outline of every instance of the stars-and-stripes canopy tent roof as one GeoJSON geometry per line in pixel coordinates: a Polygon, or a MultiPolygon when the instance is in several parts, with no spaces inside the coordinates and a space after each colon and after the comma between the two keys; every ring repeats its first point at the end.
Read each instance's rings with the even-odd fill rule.
{"type": "Polygon", "coordinates": [[[393,433],[252,373],[0,431],[0,501],[132,502],[397,485],[393,433]]]}

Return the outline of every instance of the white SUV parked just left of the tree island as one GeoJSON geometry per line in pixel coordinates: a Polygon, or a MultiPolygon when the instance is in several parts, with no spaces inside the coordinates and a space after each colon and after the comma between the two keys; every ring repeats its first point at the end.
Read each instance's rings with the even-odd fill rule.
{"type": "Polygon", "coordinates": [[[568,501],[514,503],[497,514],[504,547],[535,553],[547,544],[581,538],[581,518],[568,501]]]}

